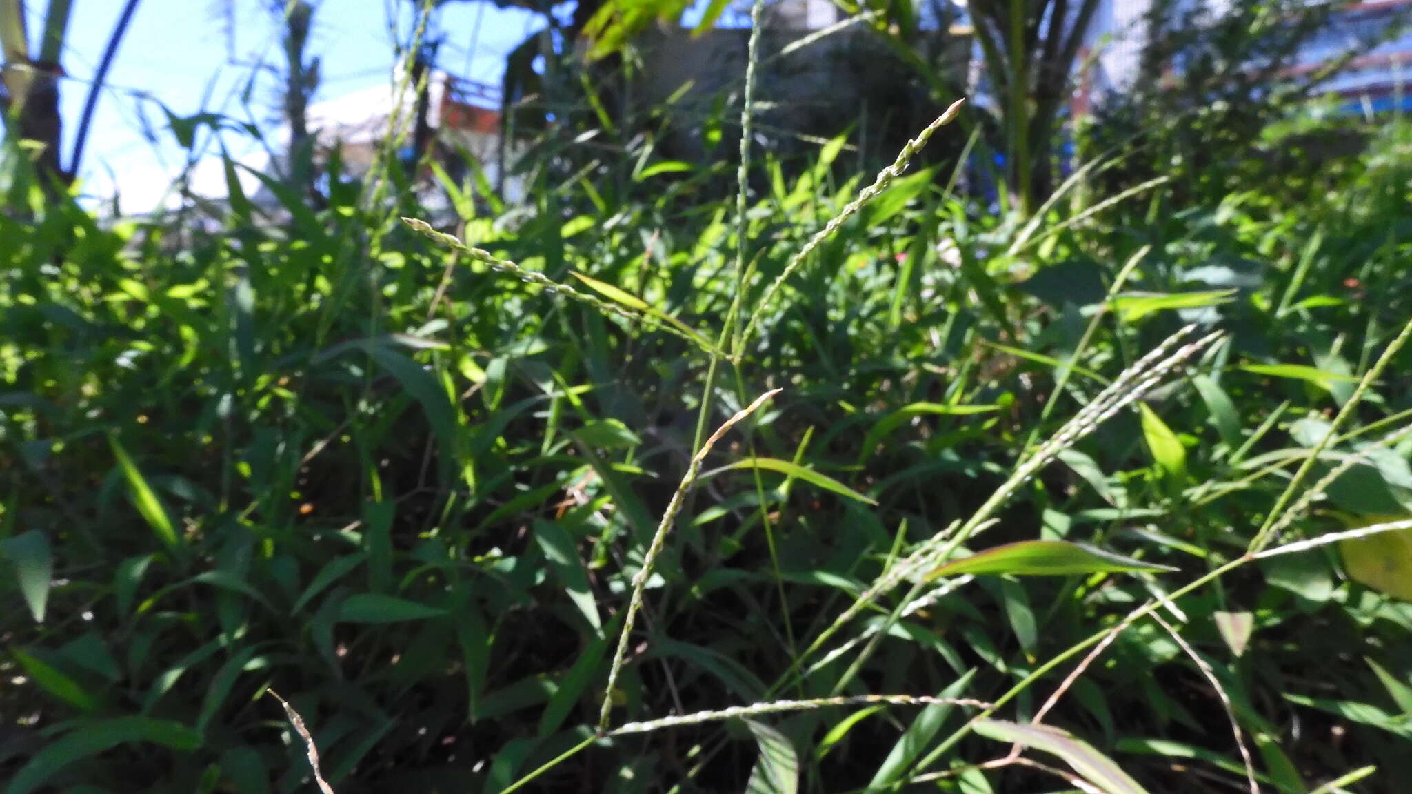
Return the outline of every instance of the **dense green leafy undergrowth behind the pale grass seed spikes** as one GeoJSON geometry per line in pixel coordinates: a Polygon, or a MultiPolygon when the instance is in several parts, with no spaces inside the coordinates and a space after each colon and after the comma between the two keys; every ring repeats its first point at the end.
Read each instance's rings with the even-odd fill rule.
{"type": "MultiPolygon", "coordinates": [[[[710,452],[645,576],[611,723],[864,694],[1004,697],[995,716],[1028,722],[1084,654],[1005,695],[1017,682],[1248,559],[1271,511],[1305,507],[1350,455],[1275,543],[1408,514],[1412,449],[1377,442],[1412,411],[1412,355],[1356,394],[1412,316],[1412,147],[1399,124],[1371,137],[1298,189],[1175,205],[1156,184],[1080,206],[1091,192],[1070,188],[1034,223],[986,215],[946,170],[915,171],[770,304],[770,281],[866,184],[837,175],[839,146],[757,164],[743,240],[730,202],[693,201],[719,195],[714,170],[544,178],[531,206],[479,213],[469,185],[443,185],[460,216],[446,230],[647,322],[417,235],[397,219],[425,211],[397,170],[335,181],[318,211],[271,182],[284,206],[267,216],[237,191],[206,227],[100,223],[13,168],[4,791],[312,790],[267,687],[304,715],[340,794],[501,791],[593,736],[688,459],[768,389],[782,393],[710,452]],[[755,273],[743,284],[737,246],[755,273]],[[734,326],[758,312],[758,332],[713,366],[705,348],[737,298],[734,326]],[[964,544],[1103,552],[1021,545],[902,576],[947,589],[905,615],[908,588],[882,592],[823,644],[847,651],[792,675],[870,583],[1183,324],[1224,335],[964,544]]],[[[796,769],[830,793],[1069,786],[1035,766],[966,769],[1021,740],[1114,794],[1244,790],[1234,721],[1261,790],[1374,764],[1347,788],[1398,791],[1412,605],[1395,576],[1412,555],[1396,534],[1377,541],[1392,579],[1324,545],[1161,608],[1180,641],[1145,619],[1113,634],[1045,723],[1121,771],[1032,728],[967,723],[969,706],[863,704],[602,737],[527,787],[794,791],[796,769]]]]}

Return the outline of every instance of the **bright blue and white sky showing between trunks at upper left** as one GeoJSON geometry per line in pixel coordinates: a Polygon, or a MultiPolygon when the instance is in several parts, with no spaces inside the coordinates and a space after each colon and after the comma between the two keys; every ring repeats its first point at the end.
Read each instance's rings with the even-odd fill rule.
{"type": "MultiPolygon", "coordinates": [[[[109,71],[109,90],[89,133],[80,174],[85,192],[109,194],[116,178],[128,206],[148,203],[161,195],[185,160],[167,129],[162,107],[179,117],[205,110],[250,120],[240,95],[254,65],[261,59],[282,64],[275,18],[265,10],[265,0],[232,0],[237,24],[227,37],[217,11],[222,1],[141,0],[109,71]],[[138,90],[155,102],[140,99],[138,90]]],[[[48,1],[27,0],[25,6],[31,37],[37,37],[48,1]]],[[[65,158],[88,86],[121,6],[120,0],[73,0],[62,59],[71,78],[62,90],[65,158]]],[[[311,45],[311,55],[322,58],[322,82],[313,100],[385,83],[393,68],[390,17],[400,17],[405,34],[411,8],[408,0],[322,0],[311,45]]],[[[442,68],[496,83],[505,54],[542,23],[528,11],[496,8],[480,0],[448,3],[435,24],[445,37],[442,68]]],[[[275,117],[277,83],[273,75],[265,75],[254,85],[250,110],[254,120],[270,122],[275,117]]],[[[227,146],[237,154],[241,141],[227,137],[227,146]]],[[[244,146],[253,147],[249,141],[244,146]]]]}

